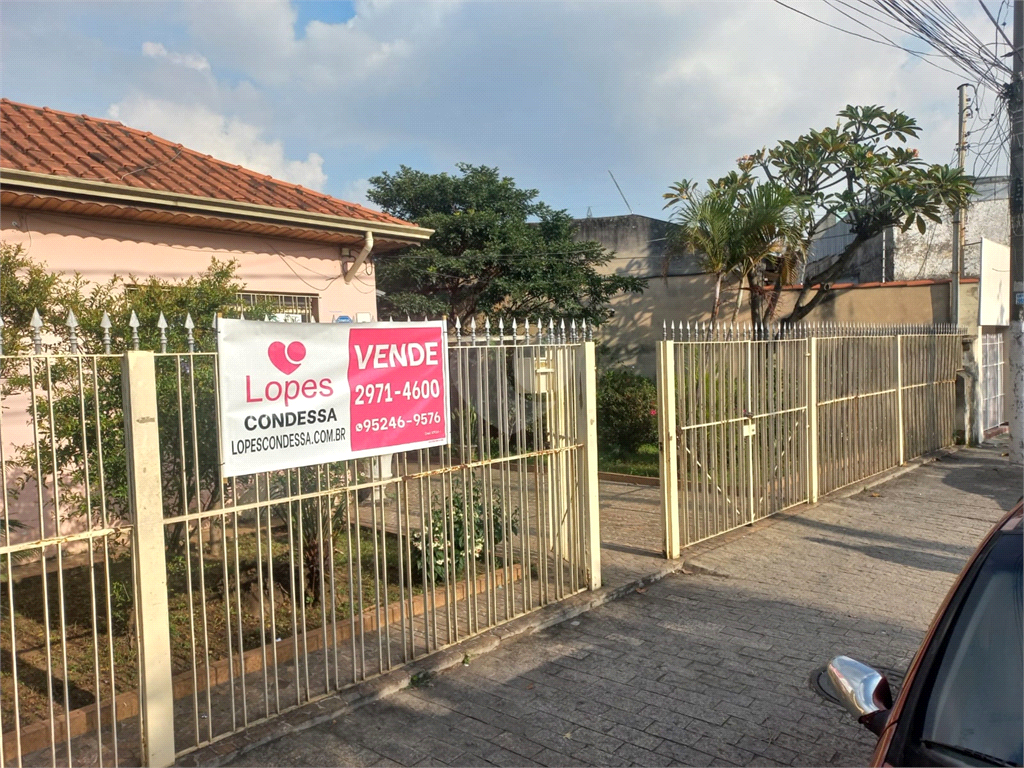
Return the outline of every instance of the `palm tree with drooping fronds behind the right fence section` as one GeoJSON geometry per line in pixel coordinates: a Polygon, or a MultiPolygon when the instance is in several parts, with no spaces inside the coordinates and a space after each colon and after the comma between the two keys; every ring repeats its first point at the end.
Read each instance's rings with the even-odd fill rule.
{"type": "Polygon", "coordinates": [[[694,253],[700,266],[715,275],[715,302],[711,321],[718,319],[722,284],[733,275],[746,280],[752,289],[751,312],[755,322],[765,319],[755,300],[755,273],[765,262],[791,271],[800,253],[801,229],[797,225],[795,198],[773,183],[753,184],[750,177],[731,183],[711,184],[698,194],[696,185],[683,180],[665,197],[677,224],[670,254],[694,253]]]}

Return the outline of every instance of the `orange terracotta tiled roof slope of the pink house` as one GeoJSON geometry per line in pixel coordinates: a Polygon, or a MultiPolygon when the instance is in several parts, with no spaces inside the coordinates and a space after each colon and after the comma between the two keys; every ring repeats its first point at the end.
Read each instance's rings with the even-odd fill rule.
{"type": "Polygon", "coordinates": [[[0,167],[253,205],[409,224],[129,128],[0,99],[0,167]]]}

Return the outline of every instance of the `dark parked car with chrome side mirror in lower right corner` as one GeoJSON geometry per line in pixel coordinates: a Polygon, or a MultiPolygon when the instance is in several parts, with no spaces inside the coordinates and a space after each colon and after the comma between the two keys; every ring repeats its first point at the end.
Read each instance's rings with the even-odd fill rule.
{"type": "Polygon", "coordinates": [[[961,571],[895,703],[881,672],[848,656],[825,668],[823,685],[879,735],[872,766],[1024,763],[1022,540],[1018,504],[961,571]]]}

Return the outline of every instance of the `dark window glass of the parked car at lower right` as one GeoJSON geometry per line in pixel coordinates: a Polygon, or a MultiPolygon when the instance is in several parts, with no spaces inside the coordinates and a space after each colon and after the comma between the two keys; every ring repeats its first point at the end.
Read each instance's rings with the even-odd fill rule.
{"type": "Polygon", "coordinates": [[[1024,763],[1021,541],[1020,534],[1004,534],[994,542],[951,628],[928,695],[916,740],[954,763],[1024,763]]]}

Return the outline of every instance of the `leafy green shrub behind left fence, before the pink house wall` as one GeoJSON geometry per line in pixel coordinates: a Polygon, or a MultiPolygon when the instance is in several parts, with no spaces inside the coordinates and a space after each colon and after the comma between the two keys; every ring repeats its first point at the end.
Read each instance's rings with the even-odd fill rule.
{"type": "MultiPolygon", "coordinates": [[[[104,312],[111,318],[111,351],[119,354],[132,348],[129,319],[133,311],[139,319],[140,348],[160,349],[158,318],[163,313],[170,326],[168,349],[187,350],[184,321],[190,314],[196,326],[196,351],[213,351],[214,315],[240,313],[238,294],[244,285],[234,276],[236,267],[233,261],[212,259],[205,272],[181,281],[116,275],[95,285],[78,274],[50,271],[45,264],[30,259],[20,247],[0,245],[4,353],[32,351],[29,321],[35,309],[43,319],[43,346],[47,352],[69,350],[71,330],[65,325],[69,310],[79,322],[79,348],[88,354],[103,352],[104,312]]],[[[259,306],[252,311],[261,315],[270,310],[269,306],[259,306]]],[[[190,511],[212,509],[221,502],[217,432],[209,427],[216,418],[213,359],[212,355],[200,354],[157,360],[161,472],[168,511],[180,513],[186,506],[190,511]],[[179,415],[184,429],[180,428],[179,415]]],[[[103,498],[108,513],[115,519],[128,513],[128,477],[120,359],[98,356],[94,370],[91,366],[89,358],[83,358],[80,368],[79,358],[70,356],[49,361],[7,356],[0,370],[0,394],[6,397],[30,391],[35,367],[38,441],[23,446],[14,462],[26,470],[26,477],[38,474],[50,493],[54,482],[59,484],[67,515],[91,515],[98,522],[99,452],[103,498]],[[91,509],[87,500],[91,501],[91,509]]],[[[171,532],[172,551],[183,543],[183,532],[182,526],[171,532]]]]}

